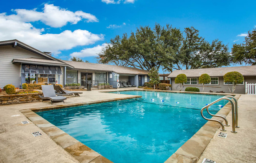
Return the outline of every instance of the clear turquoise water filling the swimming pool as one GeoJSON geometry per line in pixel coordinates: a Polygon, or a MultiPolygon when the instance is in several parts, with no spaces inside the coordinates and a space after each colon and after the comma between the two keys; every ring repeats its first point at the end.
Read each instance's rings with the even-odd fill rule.
{"type": "MultiPolygon", "coordinates": [[[[143,97],[37,114],[114,163],[163,163],[206,123],[200,109],[222,97],[152,91],[115,93],[143,97]]],[[[222,100],[209,110],[215,114],[218,105],[227,102],[222,100]]]]}

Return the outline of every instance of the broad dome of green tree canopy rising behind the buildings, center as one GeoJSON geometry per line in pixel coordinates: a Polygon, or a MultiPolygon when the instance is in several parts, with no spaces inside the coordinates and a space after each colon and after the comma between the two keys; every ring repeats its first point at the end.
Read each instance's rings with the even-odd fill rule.
{"type": "Polygon", "coordinates": [[[131,66],[150,70],[160,67],[197,69],[227,66],[231,63],[227,45],[219,40],[207,42],[194,27],[183,32],[167,24],[155,24],[154,29],[140,26],[130,36],[115,38],[96,57],[99,63],[131,66]]]}

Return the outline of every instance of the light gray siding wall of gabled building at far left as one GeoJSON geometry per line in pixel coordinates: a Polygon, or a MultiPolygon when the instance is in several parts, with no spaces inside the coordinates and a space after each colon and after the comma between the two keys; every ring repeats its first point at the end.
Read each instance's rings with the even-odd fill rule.
{"type": "Polygon", "coordinates": [[[16,58],[44,58],[21,47],[13,48],[12,45],[0,46],[0,88],[7,84],[15,87],[21,86],[20,63],[13,64],[16,58]]]}

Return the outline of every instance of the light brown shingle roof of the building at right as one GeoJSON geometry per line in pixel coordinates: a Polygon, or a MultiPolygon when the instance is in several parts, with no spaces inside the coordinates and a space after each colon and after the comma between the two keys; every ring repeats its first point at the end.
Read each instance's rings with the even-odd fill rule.
{"type": "Polygon", "coordinates": [[[238,66],[238,67],[218,67],[207,69],[190,69],[190,70],[175,70],[168,78],[176,77],[178,74],[185,74],[187,77],[199,77],[201,74],[212,76],[224,76],[227,72],[237,71],[243,76],[256,76],[256,65],[238,66]]]}

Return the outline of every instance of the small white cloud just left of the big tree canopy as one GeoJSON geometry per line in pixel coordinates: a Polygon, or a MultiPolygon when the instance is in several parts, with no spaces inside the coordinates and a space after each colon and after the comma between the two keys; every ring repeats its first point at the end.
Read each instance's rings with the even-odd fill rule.
{"type": "Polygon", "coordinates": [[[101,49],[103,47],[106,47],[106,45],[107,45],[106,43],[103,43],[102,45],[97,45],[95,47],[85,48],[80,52],[74,52],[70,54],[70,56],[77,56],[77,57],[97,56],[97,53],[100,53],[101,49]]]}

